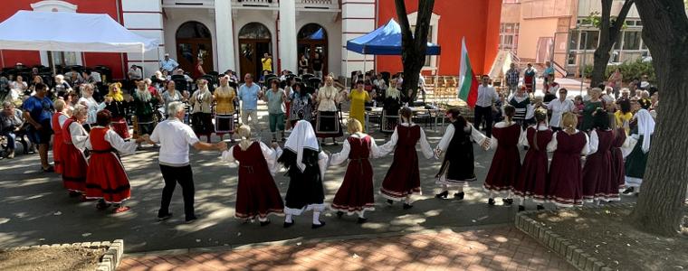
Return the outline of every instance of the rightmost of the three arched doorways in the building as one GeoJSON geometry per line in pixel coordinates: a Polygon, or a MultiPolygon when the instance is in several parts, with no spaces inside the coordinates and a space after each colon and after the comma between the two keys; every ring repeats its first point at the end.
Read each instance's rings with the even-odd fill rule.
{"type": "Polygon", "coordinates": [[[301,27],[297,39],[299,60],[301,60],[301,55],[306,56],[309,64],[308,72],[313,72],[313,60],[317,53],[322,61],[322,74],[328,74],[328,33],[325,28],[318,23],[308,23],[301,27]]]}

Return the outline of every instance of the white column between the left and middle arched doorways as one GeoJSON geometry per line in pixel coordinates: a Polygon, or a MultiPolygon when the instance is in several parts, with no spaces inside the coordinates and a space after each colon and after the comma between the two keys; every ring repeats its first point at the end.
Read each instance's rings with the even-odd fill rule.
{"type": "Polygon", "coordinates": [[[232,2],[215,0],[215,37],[217,37],[217,71],[236,70],[234,61],[234,28],[232,2]]]}

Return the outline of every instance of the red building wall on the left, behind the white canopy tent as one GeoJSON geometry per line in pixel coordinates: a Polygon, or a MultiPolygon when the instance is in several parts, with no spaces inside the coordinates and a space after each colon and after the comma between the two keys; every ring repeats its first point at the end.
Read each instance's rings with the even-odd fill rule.
{"type": "MultiPolygon", "coordinates": [[[[63,0],[77,5],[77,12],[84,14],[109,14],[115,21],[121,22],[118,8],[120,0],[63,0]]],[[[40,2],[40,0],[12,0],[3,1],[3,8],[0,8],[0,22],[14,15],[20,10],[33,10],[31,4],[40,2]]],[[[119,5],[121,6],[121,5],[119,5]]],[[[31,32],[31,29],[25,31],[31,32]]],[[[97,29],[86,29],[81,25],[74,25],[74,31],[88,31],[97,32],[97,29]]],[[[125,56],[126,57],[126,56],[125,56]]],[[[121,79],[124,77],[122,70],[122,55],[119,53],[108,52],[85,52],[83,53],[82,61],[87,67],[96,65],[103,65],[112,70],[112,77],[114,79],[121,79]]],[[[21,62],[26,66],[40,65],[41,55],[39,51],[15,51],[3,50],[3,60],[5,67],[14,66],[17,62],[21,62]]]]}

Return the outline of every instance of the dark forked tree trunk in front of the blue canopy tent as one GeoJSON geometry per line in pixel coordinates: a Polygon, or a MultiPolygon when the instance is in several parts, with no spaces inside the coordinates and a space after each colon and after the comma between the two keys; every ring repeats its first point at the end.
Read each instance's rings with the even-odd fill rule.
{"type": "MultiPolygon", "coordinates": [[[[411,89],[409,100],[416,100],[418,92],[418,74],[425,64],[425,50],[427,49],[427,33],[430,31],[430,18],[433,15],[435,0],[419,0],[416,30],[411,33],[411,26],[406,17],[406,3],[395,0],[397,17],[401,26],[401,61],[404,64],[403,89],[411,89]]],[[[406,91],[402,95],[408,96],[406,91]]]]}

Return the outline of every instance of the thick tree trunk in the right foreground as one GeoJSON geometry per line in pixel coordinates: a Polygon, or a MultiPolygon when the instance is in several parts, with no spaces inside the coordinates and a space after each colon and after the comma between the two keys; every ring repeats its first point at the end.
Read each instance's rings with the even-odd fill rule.
{"type": "Polygon", "coordinates": [[[636,3],[643,20],[643,41],[652,53],[662,106],[650,145],[635,210],[630,220],[636,229],[664,236],[675,235],[683,216],[688,185],[688,17],[682,0],[643,0],[636,3]]]}

